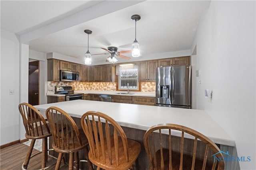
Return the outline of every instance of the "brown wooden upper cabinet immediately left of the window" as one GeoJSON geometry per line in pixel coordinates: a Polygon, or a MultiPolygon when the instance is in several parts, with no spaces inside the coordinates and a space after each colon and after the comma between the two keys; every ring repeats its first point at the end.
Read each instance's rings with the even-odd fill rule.
{"type": "Polygon", "coordinates": [[[102,82],[116,82],[116,67],[112,64],[102,65],[102,82]]]}

